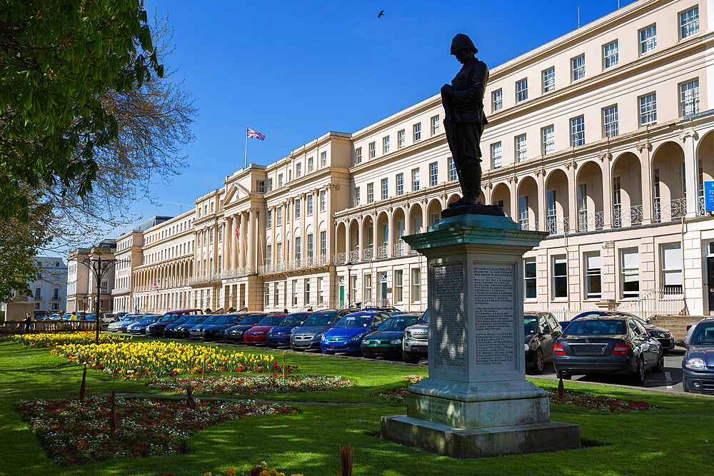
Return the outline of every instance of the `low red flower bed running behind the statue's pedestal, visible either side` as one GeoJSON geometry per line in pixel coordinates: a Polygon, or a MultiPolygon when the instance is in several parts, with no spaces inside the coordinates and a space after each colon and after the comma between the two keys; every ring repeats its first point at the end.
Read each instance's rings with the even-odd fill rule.
{"type": "MultiPolygon", "coordinates": [[[[423,380],[423,377],[415,377],[410,375],[406,378],[409,380],[409,385],[423,380]]],[[[395,390],[387,390],[386,392],[373,393],[373,397],[380,397],[388,402],[403,402],[406,400],[407,388],[396,388],[395,390]]],[[[600,410],[602,412],[624,413],[624,412],[640,412],[644,410],[652,410],[660,408],[657,405],[650,405],[648,402],[636,402],[632,400],[624,400],[622,398],[605,397],[605,395],[595,395],[590,392],[577,392],[575,390],[565,390],[563,398],[558,397],[558,389],[550,387],[541,387],[548,392],[550,403],[560,403],[563,405],[576,405],[578,407],[589,408],[590,410],[600,410]]]]}

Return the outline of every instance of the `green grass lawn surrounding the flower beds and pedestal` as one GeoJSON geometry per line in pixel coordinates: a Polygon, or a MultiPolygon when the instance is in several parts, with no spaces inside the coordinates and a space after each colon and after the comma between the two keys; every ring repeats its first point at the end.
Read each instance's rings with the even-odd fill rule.
{"type": "MultiPolygon", "coordinates": [[[[282,361],[276,351],[246,352],[272,352],[278,363],[282,361]]],[[[298,404],[303,410],[300,415],[223,422],[193,435],[185,454],[60,467],[46,456],[14,406],[20,399],[79,395],[82,368],[51,355],[47,349],[23,348],[0,340],[0,440],[4,442],[0,475],[203,475],[208,471],[215,475],[228,467],[240,474],[263,460],[286,475],[337,475],[338,443],[348,442],[355,449],[356,475],[708,474],[714,465],[713,400],[566,382],[573,390],[645,400],[663,409],[610,414],[573,405],[551,405],[551,418],[580,425],[588,447],[452,460],[374,437],[382,415],[402,415],[406,407],[371,394],[404,385],[406,375],[426,375],[426,368],[309,354],[288,353],[286,358],[286,363],[298,366],[299,373],[341,375],[356,385],[316,393],[258,395],[258,399],[346,405],[298,404]],[[361,402],[373,405],[355,405],[361,402]]],[[[553,385],[552,381],[533,381],[553,385]]],[[[112,388],[117,392],[152,393],[144,382],[114,381],[106,374],[88,371],[88,395],[112,388]]]]}

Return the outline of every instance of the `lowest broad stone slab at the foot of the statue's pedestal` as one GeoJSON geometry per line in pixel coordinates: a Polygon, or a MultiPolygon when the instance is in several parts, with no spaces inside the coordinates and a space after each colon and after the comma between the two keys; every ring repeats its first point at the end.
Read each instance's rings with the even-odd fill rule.
{"type": "Polygon", "coordinates": [[[381,435],[421,450],[458,458],[514,455],[580,447],[580,427],[563,422],[463,428],[406,415],[382,417],[381,435]]]}

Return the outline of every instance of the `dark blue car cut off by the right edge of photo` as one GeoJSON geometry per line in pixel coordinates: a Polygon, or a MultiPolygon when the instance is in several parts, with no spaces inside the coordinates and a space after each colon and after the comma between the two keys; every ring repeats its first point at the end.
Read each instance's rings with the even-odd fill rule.
{"type": "Polygon", "coordinates": [[[714,318],[700,320],[694,326],[682,359],[682,388],[690,393],[714,395],[714,318]]]}

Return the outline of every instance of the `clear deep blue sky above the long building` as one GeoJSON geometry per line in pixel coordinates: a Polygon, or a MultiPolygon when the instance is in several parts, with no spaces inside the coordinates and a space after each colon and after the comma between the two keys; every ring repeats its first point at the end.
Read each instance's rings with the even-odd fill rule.
{"type": "MultiPolygon", "coordinates": [[[[186,211],[242,168],[246,126],[266,136],[250,140],[248,162],[266,164],[327,131],[357,131],[433,96],[461,66],[449,56],[456,33],[497,66],[578,26],[571,0],[147,1],[150,17],[169,14],[176,50],[166,63],[186,77],[198,117],[189,167],[154,185],[163,206],[131,208],[144,218],[178,215],[178,203],[186,211]]],[[[580,24],[617,8],[617,0],[582,1],[580,24]]]]}

